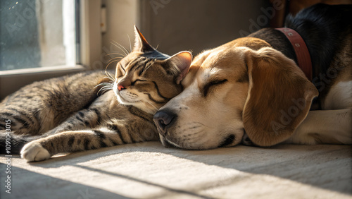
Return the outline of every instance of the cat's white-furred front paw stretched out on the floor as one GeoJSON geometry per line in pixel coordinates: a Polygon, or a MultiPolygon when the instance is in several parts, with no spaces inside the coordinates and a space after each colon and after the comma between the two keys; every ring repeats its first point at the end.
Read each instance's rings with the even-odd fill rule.
{"type": "Polygon", "coordinates": [[[23,146],[21,157],[27,159],[27,162],[33,162],[49,159],[51,155],[39,142],[33,141],[23,146]]]}

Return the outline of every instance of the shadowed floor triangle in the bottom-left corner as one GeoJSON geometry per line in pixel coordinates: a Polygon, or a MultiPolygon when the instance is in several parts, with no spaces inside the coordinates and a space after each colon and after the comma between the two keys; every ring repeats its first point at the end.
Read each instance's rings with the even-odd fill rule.
{"type": "MultiPolygon", "coordinates": [[[[6,165],[0,164],[1,171],[4,171],[4,168],[6,165]]],[[[12,166],[11,170],[11,194],[6,193],[4,175],[1,174],[0,198],[125,198],[99,188],[53,178],[18,167],[12,166]]]]}

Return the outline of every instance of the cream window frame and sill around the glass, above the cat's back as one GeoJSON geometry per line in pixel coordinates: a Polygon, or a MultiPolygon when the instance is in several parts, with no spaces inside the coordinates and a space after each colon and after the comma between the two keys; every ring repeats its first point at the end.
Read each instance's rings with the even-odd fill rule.
{"type": "MultiPolygon", "coordinates": [[[[10,71],[0,71],[0,100],[23,86],[34,81],[54,78],[58,76],[79,73],[92,69],[92,63],[99,61],[101,56],[101,0],[75,0],[79,5],[79,15],[76,22],[79,28],[80,59],[73,66],[52,66],[39,68],[25,68],[10,71]]],[[[76,37],[77,38],[77,37],[76,37]]],[[[77,55],[78,56],[78,55],[77,55]]]]}

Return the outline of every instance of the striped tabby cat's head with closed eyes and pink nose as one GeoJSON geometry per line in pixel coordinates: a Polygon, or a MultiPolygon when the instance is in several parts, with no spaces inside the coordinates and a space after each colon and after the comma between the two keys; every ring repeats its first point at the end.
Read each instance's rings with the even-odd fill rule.
{"type": "Polygon", "coordinates": [[[189,70],[192,55],[168,56],[146,42],[134,27],[134,49],[116,66],[113,91],[120,104],[132,105],[150,114],[182,92],[180,81],[189,70]]]}

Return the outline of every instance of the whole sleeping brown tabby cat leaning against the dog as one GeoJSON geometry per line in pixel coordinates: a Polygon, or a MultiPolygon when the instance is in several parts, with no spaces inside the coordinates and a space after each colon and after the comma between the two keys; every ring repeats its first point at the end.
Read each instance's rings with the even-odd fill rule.
{"type": "Polygon", "coordinates": [[[153,114],[182,91],[191,53],[162,54],[134,31],[134,49],[118,62],[113,83],[101,71],[80,73],[32,83],[6,97],[0,103],[1,153],[20,152],[30,162],[158,140],[153,114]]]}

